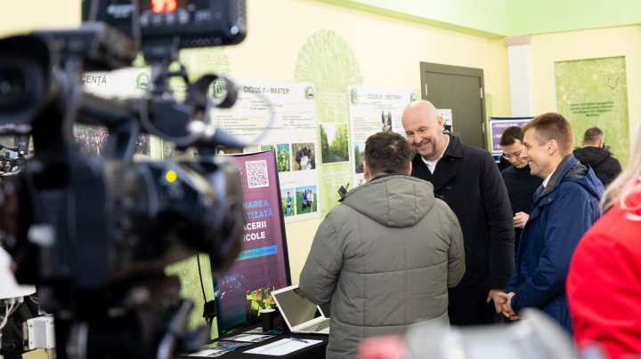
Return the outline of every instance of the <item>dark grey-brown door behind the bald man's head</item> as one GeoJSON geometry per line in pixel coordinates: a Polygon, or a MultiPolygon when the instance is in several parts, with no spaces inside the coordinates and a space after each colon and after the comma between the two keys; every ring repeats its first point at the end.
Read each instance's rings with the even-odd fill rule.
{"type": "Polygon", "coordinates": [[[483,69],[420,63],[423,99],[452,110],[452,132],[461,142],[487,149],[483,69]]]}

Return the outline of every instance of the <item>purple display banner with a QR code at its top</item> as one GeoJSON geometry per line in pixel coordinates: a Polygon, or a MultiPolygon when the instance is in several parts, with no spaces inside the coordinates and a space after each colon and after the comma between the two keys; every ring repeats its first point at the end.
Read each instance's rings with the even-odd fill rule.
{"type": "Polygon", "coordinates": [[[234,155],[243,180],[247,223],[243,250],[215,285],[218,334],[223,337],[258,322],[273,307],[271,292],[291,283],[280,185],[274,151],[234,155]]]}

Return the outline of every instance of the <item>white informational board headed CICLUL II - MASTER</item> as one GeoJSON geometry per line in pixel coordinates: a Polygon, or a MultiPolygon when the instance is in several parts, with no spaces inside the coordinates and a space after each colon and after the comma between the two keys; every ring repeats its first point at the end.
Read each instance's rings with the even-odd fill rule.
{"type": "Polygon", "coordinates": [[[234,82],[238,100],[233,108],[212,111],[215,128],[249,144],[245,153],[275,152],[286,222],[318,218],[320,148],[312,84],[256,79],[234,82]]]}

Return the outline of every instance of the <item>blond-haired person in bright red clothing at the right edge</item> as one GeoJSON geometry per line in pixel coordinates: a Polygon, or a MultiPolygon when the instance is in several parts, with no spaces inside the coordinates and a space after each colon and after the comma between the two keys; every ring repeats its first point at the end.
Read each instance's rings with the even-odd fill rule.
{"type": "Polygon", "coordinates": [[[632,139],[628,166],[601,201],[607,212],[581,238],[566,283],[577,346],[613,359],[641,357],[641,124],[632,139]]]}

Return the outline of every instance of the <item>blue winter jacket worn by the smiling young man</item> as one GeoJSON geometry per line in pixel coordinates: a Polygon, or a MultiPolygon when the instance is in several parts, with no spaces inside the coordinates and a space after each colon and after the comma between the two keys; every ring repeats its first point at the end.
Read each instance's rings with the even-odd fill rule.
{"type": "Polygon", "coordinates": [[[592,169],[569,155],[542,193],[534,195],[506,288],[516,293],[511,301],[516,313],[538,307],[572,333],[565,278],[574,248],[600,216],[603,192],[592,169]]]}

